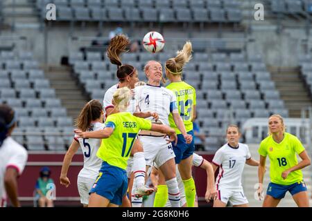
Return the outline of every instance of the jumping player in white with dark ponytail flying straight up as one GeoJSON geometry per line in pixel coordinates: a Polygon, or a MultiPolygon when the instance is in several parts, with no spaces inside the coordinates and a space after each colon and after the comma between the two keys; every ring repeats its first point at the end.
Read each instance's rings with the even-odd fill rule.
{"type": "MultiPolygon", "coordinates": [[[[138,73],[135,67],[130,64],[122,64],[120,55],[122,52],[126,51],[126,47],[130,44],[130,41],[125,35],[116,35],[110,41],[110,44],[107,48],[107,57],[110,59],[112,64],[116,64],[117,72],[116,76],[119,79],[119,83],[110,87],[104,96],[103,106],[105,108],[106,116],[109,116],[111,111],[114,109],[114,105],[112,105],[112,95],[116,92],[118,88],[128,87],[130,89],[135,88],[135,84],[138,81],[138,73]]],[[[127,109],[129,113],[134,114],[137,117],[153,117],[154,119],[158,119],[157,113],[146,111],[146,113],[135,113],[135,108],[137,103],[134,99],[134,95],[132,93],[132,99],[130,99],[130,105],[127,109]]],[[[143,147],[141,146],[139,140],[135,140],[135,143],[132,148],[131,156],[128,160],[127,174],[130,180],[131,173],[134,173],[135,178],[132,184],[130,184],[131,195],[137,195],[137,198],[141,198],[144,195],[149,195],[153,193],[153,189],[150,189],[144,185],[145,183],[145,174],[146,174],[146,164],[144,159],[143,147]],[[133,156],[133,158],[132,158],[133,156]]],[[[141,199],[140,199],[141,200],[141,199]]],[[[140,201],[139,200],[139,201],[140,201]]],[[[137,204],[133,203],[132,206],[137,206],[137,204]]]]}

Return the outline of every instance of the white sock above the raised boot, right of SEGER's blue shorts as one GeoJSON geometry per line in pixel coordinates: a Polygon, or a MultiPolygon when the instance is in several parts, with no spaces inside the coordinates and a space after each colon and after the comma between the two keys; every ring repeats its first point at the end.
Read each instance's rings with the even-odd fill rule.
{"type": "MultiPolygon", "coordinates": [[[[146,163],[143,152],[138,152],[133,155],[132,171],[135,175],[133,180],[133,187],[138,188],[145,184],[145,170],[146,163]]],[[[133,189],[133,188],[132,188],[133,189]]]]}

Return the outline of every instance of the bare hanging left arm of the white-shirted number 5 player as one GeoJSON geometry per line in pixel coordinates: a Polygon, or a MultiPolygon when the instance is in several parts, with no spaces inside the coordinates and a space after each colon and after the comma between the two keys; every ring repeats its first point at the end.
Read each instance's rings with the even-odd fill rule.
{"type": "Polygon", "coordinates": [[[76,140],[73,140],[71,142],[71,146],[69,146],[69,149],[67,153],[64,156],[63,164],[62,164],[62,170],[60,174],[60,184],[68,187],[71,182],[69,181],[69,178],[67,177],[67,172],[69,169],[69,166],[71,165],[71,160],[73,159],[73,155],[78,151],[79,143],[76,140]]]}

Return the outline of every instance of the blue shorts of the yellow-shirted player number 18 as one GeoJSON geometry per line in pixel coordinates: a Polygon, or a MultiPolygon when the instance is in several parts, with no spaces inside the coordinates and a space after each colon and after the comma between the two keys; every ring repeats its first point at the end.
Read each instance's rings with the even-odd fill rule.
{"type": "Polygon", "coordinates": [[[289,191],[291,195],[295,195],[296,193],[306,191],[306,184],[304,181],[295,182],[291,185],[280,185],[280,184],[273,184],[270,182],[268,184],[268,190],[266,191],[267,195],[272,196],[276,199],[282,199],[285,197],[286,192],[289,191]]]}

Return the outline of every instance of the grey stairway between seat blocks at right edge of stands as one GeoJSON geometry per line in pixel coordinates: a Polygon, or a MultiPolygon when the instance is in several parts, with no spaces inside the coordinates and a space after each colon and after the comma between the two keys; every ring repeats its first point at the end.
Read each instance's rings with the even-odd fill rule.
{"type": "Polygon", "coordinates": [[[300,79],[300,70],[269,67],[269,71],[289,111],[289,117],[301,117],[302,108],[312,106],[312,99],[304,81],[300,79]]]}

